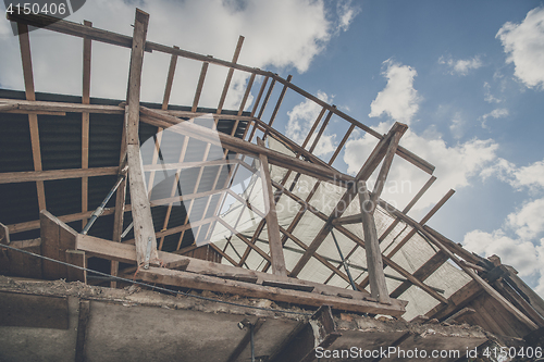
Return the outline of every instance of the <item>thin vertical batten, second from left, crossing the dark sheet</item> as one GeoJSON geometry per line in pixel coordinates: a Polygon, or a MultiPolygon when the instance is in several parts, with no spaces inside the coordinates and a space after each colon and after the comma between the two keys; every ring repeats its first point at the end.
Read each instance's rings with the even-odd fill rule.
{"type": "MultiPolygon", "coordinates": [[[[92,27],[91,22],[84,21],[84,25],[92,27]]],[[[82,103],[90,103],[90,54],[91,40],[88,37],[83,38],[83,96],[82,103]]],[[[89,117],[88,112],[82,113],[82,168],[89,167],[89,117]]],[[[88,211],[88,177],[82,177],[82,212],[88,211]]],[[[82,221],[82,227],[85,227],[87,220],[82,221]]]]}

